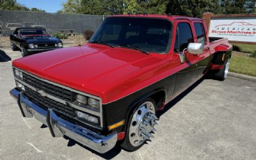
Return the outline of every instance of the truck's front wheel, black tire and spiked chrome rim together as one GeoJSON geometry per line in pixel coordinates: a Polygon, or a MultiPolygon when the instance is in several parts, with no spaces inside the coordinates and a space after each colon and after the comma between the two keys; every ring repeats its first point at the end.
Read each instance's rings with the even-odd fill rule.
{"type": "Polygon", "coordinates": [[[124,142],[121,147],[125,150],[138,150],[145,141],[154,138],[152,134],[156,132],[154,126],[156,120],[156,103],[153,99],[145,99],[140,102],[129,117],[124,142]]]}

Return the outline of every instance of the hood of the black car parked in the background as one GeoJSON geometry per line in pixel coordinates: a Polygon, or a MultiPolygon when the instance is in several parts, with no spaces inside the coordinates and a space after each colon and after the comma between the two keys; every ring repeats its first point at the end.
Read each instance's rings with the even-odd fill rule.
{"type": "Polygon", "coordinates": [[[34,36],[33,38],[24,38],[28,44],[54,44],[59,43],[61,40],[53,36],[34,36]]]}

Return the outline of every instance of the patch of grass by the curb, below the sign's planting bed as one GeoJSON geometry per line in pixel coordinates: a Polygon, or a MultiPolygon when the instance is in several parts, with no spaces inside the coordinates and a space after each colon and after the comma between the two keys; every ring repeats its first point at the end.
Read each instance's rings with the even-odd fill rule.
{"type": "Polygon", "coordinates": [[[230,72],[256,77],[256,58],[232,54],[230,72]]]}

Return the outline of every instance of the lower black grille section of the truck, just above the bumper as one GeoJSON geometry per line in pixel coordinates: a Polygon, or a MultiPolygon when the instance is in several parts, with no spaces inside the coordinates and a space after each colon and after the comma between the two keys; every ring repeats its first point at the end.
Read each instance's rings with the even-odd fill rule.
{"type": "Polygon", "coordinates": [[[75,111],[70,106],[57,102],[55,100],[49,99],[48,97],[43,97],[40,93],[31,90],[27,86],[25,86],[25,94],[29,98],[29,100],[36,105],[42,107],[42,109],[47,110],[48,108],[53,108],[60,113],[63,113],[67,116],[75,116],[75,111]]]}

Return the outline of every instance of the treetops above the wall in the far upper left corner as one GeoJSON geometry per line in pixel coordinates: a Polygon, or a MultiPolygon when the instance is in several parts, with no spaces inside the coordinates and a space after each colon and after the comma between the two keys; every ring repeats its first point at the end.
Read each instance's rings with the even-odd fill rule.
{"type": "Polygon", "coordinates": [[[32,12],[45,12],[44,10],[40,10],[38,8],[31,8],[31,10],[29,10],[28,7],[17,3],[16,0],[0,0],[0,10],[24,10],[32,12]]]}

